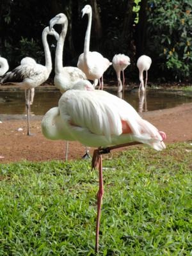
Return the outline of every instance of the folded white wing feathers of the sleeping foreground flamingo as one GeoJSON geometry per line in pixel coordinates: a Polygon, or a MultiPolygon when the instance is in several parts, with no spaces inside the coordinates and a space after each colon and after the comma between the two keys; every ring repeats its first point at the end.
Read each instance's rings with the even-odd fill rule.
{"type": "Polygon", "coordinates": [[[122,122],[113,104],[97,93],[70,90],[59,100],[60,115],[68,125],[83,127],[110,138],[122,134],[122,122]]]}

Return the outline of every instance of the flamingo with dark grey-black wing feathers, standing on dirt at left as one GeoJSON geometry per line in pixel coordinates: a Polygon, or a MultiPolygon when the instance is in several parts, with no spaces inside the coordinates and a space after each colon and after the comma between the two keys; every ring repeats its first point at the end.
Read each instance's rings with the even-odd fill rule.
{"type": "Polygon", "coordinates": [[[42,43],[44,45],[45,52],[45,66],[36,63],[32,58],[24,58],[21,61],[21,64],[13,69],[11,72],[7,72],[1,79],[1,83],[12,83],[20,88],[26,90],[26,108],[27,108],[27,118],[28,118],[28,135],[31,135],[29,131],[29,113],[30,113],[30,99],[31,92],[33,93],[33,88],[44,83],[51,73],[52,70],[52,61],[51,61],[51,52],[49,49],[49,44],[47,42],[47,35],[52,35],[58,40],[58,33],[49,27],[44,28],[42,32],[42,43]]]}

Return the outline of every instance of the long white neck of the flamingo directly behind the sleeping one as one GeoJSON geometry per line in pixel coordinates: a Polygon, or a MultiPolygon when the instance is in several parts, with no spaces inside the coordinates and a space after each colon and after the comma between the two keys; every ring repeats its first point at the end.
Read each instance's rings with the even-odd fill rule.
{"type": "Polygon", "coordinates": [[[61,72],[63,68],[63,46],[65,42],[65,36],[67,34],[68,21],[65,24],[62,24],[62,30],[60,33],[60,38],[57,42],[56,52],[55,52],[55,63],[54,63],[54,71],[55,73],[61,72]]]}

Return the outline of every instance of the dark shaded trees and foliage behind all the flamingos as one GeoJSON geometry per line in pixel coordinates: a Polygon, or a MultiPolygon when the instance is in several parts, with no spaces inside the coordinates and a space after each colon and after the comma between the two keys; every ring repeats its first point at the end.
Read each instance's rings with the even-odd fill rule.
{"type": "MultiPolygon", "coordinates": [[[[99,51],[109,60],[116,53],[127,54],[132,63],[126,70],[130,80],[138,79],[137,58],[148,54],[153,60],[150,80],[190,81],[191,0],[2,0],[1,56],[8,58],[11,68],[24,56],[44,63],[42,30],[54,15],[64,12],[69,26],[63,64],[76,65],[87,26],[87,18],[81,19],[85,4],[93,8],[91,51],[99,51]]],[[[51,51],[54,56],[53,47],[51,51]]],[[[106,76],[115,76],[113,68],[106,76]]]]}

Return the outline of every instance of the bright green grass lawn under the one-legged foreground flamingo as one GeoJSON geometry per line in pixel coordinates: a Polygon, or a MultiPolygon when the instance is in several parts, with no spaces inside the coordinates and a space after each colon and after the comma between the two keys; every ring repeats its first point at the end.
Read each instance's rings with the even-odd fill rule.
{"type": "MultiPolygon", "coordinates": [[[[192,255],[190,143],[105,156],[100,255],[192,255]]],[[[0,165],[0,255],[94,255],[90,161],[0,165]]]]}

